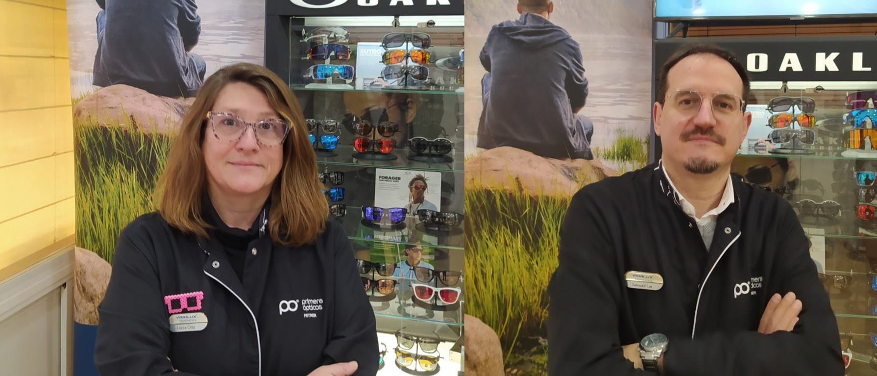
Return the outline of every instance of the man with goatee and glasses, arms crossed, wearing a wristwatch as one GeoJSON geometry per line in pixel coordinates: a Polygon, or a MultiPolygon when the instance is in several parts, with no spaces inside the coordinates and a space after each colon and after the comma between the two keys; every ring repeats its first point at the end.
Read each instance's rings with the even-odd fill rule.
{"type": "Polygon", "coordinates": [[[550,374],[844,374],[795,212],[730,177],[748,95],[718,47],[683,48],[661,69],[661,161],[585,186],[561,226],[550,374]]]}

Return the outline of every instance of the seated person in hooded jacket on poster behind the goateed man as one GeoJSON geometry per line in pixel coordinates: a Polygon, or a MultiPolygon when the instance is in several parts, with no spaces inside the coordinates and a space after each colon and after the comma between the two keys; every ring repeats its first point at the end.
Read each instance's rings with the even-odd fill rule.
{"type": "Polygon", "coordinates": [[[548,21],[550,0],[518,0],[521,17],[490,30],[481,50],[484,108],[478,148],[510,146],[549,158],[593,159],[594,125],[578,115],[588,98],[581,50],[548,21]]]}

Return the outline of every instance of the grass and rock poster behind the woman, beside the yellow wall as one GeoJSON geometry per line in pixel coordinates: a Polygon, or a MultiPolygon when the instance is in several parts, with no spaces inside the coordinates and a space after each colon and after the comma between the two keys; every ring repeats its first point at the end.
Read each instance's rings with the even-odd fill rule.
{"type": "Polygon", "coordinates": [[[97,305],[122,228],[153,211],[174,134],[204,80],[263,63],[262,0],[68,0],[76,178],[75,374],[96,375],[97,305]],[[90,343],[89,343],[90,341],[90,343]]]}

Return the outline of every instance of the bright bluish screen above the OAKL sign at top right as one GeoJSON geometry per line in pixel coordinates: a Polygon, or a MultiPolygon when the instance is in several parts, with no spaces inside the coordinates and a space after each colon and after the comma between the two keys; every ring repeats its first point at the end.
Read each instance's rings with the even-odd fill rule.
{"type": "Polygon", "coordinates": [[[657,20],[875,18],[877,0],[655,0],[657,20]]]}

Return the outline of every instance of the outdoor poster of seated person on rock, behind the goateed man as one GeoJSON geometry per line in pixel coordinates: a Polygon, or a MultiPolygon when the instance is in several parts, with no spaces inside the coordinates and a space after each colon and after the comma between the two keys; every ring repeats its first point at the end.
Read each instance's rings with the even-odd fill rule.
{"type": "Polygon", "coordinates": [[[467,370],[545,374],[569,201],[647,164],[652,1],[605,3],[466,2],[467,370]]]}

